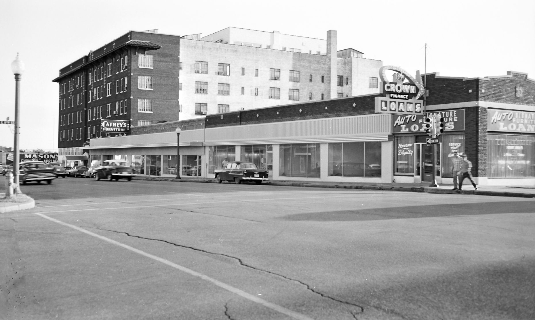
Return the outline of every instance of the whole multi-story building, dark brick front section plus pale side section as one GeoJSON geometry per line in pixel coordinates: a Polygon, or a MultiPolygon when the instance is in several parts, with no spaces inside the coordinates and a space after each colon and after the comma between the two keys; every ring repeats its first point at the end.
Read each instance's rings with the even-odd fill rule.
{"type": "MultiPolygon", "coordinates": [[[[206,37],[130,31],[60,69],[60,161],[133,127],[379,92],[379,60],[327,40],[226,28],[206,37]]],[[[86,162],[83,162],[86,163],[86,162]]]]}

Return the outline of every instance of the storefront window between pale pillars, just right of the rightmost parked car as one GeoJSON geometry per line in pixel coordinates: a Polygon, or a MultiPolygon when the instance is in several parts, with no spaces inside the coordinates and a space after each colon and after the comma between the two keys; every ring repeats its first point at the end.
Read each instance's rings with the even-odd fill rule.
{"type": "Polygon", "coordinates": [[[281,176],[319,178],[319,143],[281,144],[279,172],[281,176]]]}

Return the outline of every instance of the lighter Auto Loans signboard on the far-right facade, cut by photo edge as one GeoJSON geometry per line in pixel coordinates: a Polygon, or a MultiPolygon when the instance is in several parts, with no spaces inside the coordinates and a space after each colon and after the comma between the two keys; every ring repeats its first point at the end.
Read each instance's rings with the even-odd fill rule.
{"type": "Polygon", "coordinates": [[[535,133],[535,112],[488,109],[488,131],[535,133]]]}

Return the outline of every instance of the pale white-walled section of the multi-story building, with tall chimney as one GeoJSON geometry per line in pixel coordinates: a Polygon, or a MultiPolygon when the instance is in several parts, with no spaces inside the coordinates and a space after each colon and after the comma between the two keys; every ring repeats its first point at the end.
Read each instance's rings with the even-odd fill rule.
{"type": "Polygon", "coordinates": [[[382,61],[321,40],[229,27],[180,39],[180,120],[378,93],[382,61]]]}

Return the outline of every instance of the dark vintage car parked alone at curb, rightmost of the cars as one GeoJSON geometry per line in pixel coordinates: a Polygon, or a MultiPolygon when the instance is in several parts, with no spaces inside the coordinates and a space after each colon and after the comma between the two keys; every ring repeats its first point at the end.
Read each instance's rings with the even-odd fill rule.
{"type": "Polygon", "coordinates": [[[253,162],[232,161],[228,162],[225,168],[214,170],[217,183],[225,181],[234,181],[240,184],[242,181],[254,181],[261,184],[262,181],[268,181],[268,170],[258,169],[253,162]]]}

